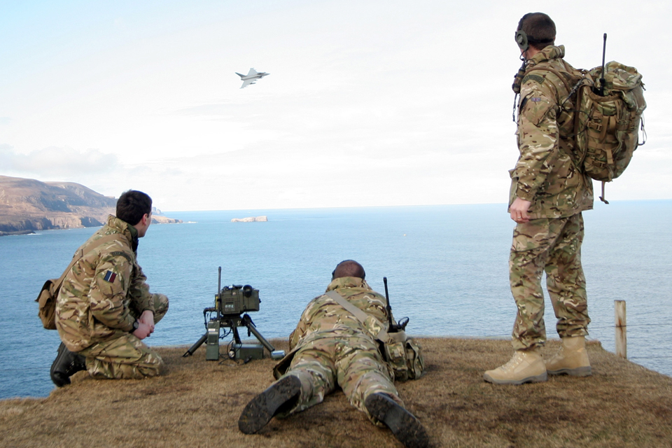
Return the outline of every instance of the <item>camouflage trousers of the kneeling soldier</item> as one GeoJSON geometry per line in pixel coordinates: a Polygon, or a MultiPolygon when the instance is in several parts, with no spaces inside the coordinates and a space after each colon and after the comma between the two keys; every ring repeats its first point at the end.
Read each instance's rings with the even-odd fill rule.
{"type": "MultiPolygon", "coordinates": [[[[154,294],[154,323],[168,311],[168,297],[154,294]]],[[[134,317],[137,314],[131,311],[134,317]]],[[[129,332],[88,346],[78,354],[86,358],[86,370],[98,379],[141,379],[155,377],[163,367],[161,357],[129,332]]]]}

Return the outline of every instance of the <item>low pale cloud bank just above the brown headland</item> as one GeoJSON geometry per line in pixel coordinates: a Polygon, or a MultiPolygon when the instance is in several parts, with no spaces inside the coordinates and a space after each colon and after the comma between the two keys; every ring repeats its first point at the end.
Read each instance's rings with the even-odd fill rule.
{"type": "Polygon", "coordinates": [[[22,154],[14,151],[13,146],[3,144],[0,145],[0,165],[6,172],[40,179],[71,179],[106,174],[118,169],[120,163],[116,155],[97,149],[77,151],[50,146],[22,154]]]}

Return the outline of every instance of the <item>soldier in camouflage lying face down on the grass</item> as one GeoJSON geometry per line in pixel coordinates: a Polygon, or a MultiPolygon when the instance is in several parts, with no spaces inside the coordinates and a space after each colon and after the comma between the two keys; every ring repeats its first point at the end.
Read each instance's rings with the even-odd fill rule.
{"type": "Polygon", "coordinates": [[[328,295],[311,300],[290,335],[290,353],[274,369],[278,381],[241,413],[238,426],[243,433],[256,433],[273,416],[317,405],[340,387],[351,405],[374,423],[388,426],[407,447],[427,446],[426,432],[404,408],[393,385],[394,373],[373,336],[381,330],[380,323],[388,329],[386,300],[364,277],[358,262],[345,260],[332,273],[326,292],[336,291],[377,323],[361,323],[328,295]]]}

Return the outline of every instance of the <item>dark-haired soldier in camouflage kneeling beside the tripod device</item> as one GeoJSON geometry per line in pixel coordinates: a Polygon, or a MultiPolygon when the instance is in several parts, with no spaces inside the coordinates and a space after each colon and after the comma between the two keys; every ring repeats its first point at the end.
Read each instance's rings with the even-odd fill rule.
{"type": "Polygon", "coordinates": [[[59,291],[56,328],[62,342],[50,372],[57,386],[70,384],[79,370],[109,379],[160,373],[161,357],[141,341],[168,311],[168,298],[149,292],[137,262],[138,239],[151,213],[151,198],[129,190],[119,197],[117,216],[109,216],[80,247],[102,241],[73,265],[59,291]]]}

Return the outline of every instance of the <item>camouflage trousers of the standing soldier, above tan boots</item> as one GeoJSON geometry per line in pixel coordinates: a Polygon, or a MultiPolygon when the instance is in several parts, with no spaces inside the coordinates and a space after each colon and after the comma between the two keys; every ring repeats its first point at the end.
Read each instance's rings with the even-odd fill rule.
{"type": "Polygon", "coordinates": [[[588,334],[586,279],[581,267],[583,235],[581,214],[533,219],[516,226],[509,258],[511,292],[518,307],[512,332],[514,349],[546,342],[541,287],[544,271],[560,337],[588,334]]]}

